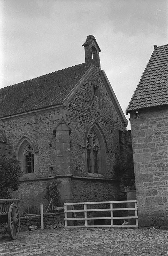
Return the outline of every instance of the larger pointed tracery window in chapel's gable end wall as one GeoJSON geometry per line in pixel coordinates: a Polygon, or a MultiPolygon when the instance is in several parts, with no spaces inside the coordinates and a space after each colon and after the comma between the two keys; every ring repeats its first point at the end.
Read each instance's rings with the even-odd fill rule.
{"type": "Polygon", "coordinates": [[[91,130],[87,136],[86,151],[87,171],[92,173],[99,173],[101,161],[100,144],[98,137],[93,130],[91,130]]]}

